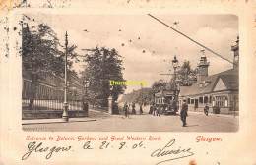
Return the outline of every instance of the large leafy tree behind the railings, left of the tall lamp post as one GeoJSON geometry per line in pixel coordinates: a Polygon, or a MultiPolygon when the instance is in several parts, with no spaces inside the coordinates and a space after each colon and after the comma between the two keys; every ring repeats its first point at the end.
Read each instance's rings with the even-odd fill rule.
{"type": "MultiPolygon", "coordinates": [[[[36,95],[36,86],[39,79],[47,75],[64,73],[64,51],[60,50],[60,43],[56,33],[45,24],[39,24],[36,29],[30,29],[28,24],[22,29],[22,61],[23,71],[26,71],[32,81],[29,94],[29,109],[32,109],[36,95]]],[[[76,46],[68,48],[70,58],[74,58],[76,46]]],[[[72,62],[68,62],[69,68],[72,62]]],[[[74,71],[69,71],[74,72],[74,71]]]]}

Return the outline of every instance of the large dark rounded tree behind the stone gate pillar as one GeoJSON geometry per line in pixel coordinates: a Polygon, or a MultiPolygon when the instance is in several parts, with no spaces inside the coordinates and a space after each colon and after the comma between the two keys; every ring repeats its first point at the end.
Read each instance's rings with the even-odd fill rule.
{"type": "Polygon", "coordinates": [[[115,49],[96,47],[86,55],[84,61],[87,63],[84,78],[89,81],[88,94],[91,101],[106,107],[110,94],[116,101],[126,88],[124,85],[114,85],[110,91],[110,80],[125,81],[123,61],[118,52],[115,49]]]}

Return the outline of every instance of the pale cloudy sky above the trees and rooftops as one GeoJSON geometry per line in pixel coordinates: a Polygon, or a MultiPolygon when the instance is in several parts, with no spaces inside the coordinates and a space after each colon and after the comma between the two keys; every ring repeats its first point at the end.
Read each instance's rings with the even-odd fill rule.
{"type": "MultiPolygon", "coordinates": [[[[30,14],[36,23],[46,23],[57,33],[64,44],[65,31],[69,43],[82,49],[105,46],[115,48],[123,57],[124,79],[146,81],[149,86],[160,79],[170,80],[173,72],[170,61],[174,55],[179,63],[190,61],[197,66],[202,47],[149,17],[148,15],[52,15],[30,14]],[[85,31],[87,30],[87,31],[85,31]],[[140,37],[140,39],[138,39],[140,37]],[[131,41],[130,41],[131,40],[131,41]]],[[[187,34],[196,41],[215,50],[232,61],[231,45],[238,36],[238,19],[233,15],[154,15],[161,21],[187,34]],[[174,24],[177,22],[178,24],[174,24]]],[[[232,64],[205,51],[210,61],[209,75],[232,68],[232,64]]],[[[81,63],[75,70],[83,69],[81,63]]],[[[148,87],[149,87],[148,86],[148,87]]],[[[147,87],[147,86],[146,86],[147,87]]],[[[140,86],[128,86],[126,93],[140,86]]]]}

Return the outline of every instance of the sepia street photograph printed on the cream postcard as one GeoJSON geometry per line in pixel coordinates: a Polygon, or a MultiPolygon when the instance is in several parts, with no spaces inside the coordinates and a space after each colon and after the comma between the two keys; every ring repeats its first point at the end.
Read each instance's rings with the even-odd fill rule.
{"type": "Polygon", "coordinates": [[[19,26],[23,131],[239,130],[235,15],[28,12],[19,26]]]}

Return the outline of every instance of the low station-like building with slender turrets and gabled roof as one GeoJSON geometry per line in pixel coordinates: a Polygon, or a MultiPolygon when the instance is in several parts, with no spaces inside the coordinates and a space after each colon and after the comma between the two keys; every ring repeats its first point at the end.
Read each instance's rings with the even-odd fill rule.
{"type": "MultiPolygon", "coordinates": [[[[179,105],[187,100],[189,111],[203,112],[206,104],[213,112],[213,106],[220,108],[222,114],[236,114],[238,112],[239,96],[239,38],[231,46],[234,53],[233,68],[224,72],[208,75],[210,62],[202,55],[198,63],[197,82],[191,86],[180,86],[179,105]]],[[[181,107],[181,106],[180,106],[181,107]]]]}

